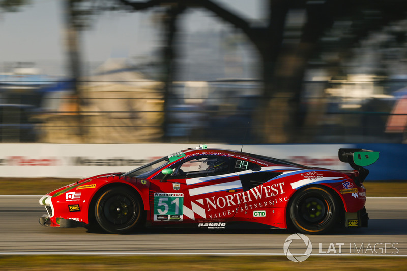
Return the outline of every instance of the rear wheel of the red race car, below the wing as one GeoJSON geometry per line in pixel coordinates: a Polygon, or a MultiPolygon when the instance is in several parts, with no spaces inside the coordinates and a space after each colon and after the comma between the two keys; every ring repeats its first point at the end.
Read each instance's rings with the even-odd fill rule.
{"type": "Polygon", "coordinates": [[[305,234],[321,234],[336,224],[339,209],[334,196],[323,187],[308,187],[294,195],[289,218],[296,230],[305,234]]]}

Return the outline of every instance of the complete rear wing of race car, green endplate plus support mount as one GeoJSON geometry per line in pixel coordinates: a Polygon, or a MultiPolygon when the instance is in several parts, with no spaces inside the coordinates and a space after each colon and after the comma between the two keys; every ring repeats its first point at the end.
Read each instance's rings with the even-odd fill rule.
{"type": "Polygon", "coordinates": [[[360,183],[363,183],[369,174],[369,170],[364,168],[364,166],[376,162],[379,159],[379,152],[360,148],[340,148],[338,156],[341,162],[349,163],[353,169],[359,171],[360,183]]]}

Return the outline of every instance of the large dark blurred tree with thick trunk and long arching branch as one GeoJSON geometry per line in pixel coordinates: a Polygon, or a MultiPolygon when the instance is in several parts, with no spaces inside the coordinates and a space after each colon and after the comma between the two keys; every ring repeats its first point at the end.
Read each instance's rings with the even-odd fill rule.
{"type": "MultiPolygon", "coordinates": [[[[301,103],[301,93],[304,74],[311,58],[318,58],[324,52],[330,52],[338,55],[336,62],[339,63],[343,57],[349,56],[350,48],[369,32],[391,21],[405,18],[407,11],[407,2],[404,0],[265,0],[267,21],[263,26],[258,26],[212,0],[117,1],[132,11],[167,7],[167,15],[172,19],[163,20],[163,23],[167,24],[164,50],[166,97],[174,72],[171,64],[174,59],[173,40],[177,31],[174,22],[185,8],[205,8],[240,29],[257,48],[261,58],[264,99],[260,105],[259,119],[263,128],[259,134],[264,136],[264,143],[301,141],[299,128],[304,124],[306,116],[306,108],[301,103]],[[175,12],[176,10],[178,12],[175,12]],[[304,10],[306,21],[300,29],[299,42],[286,46],[284,35],[290,10],[304,10]],[[329,29],[334,22],[343,20],[352,25],[346,35],[335,37],[331,43],[324,42],[323,38],[329,35],[329,29]],[[273,129],[271,133],[268,127],[278,129],[273,129]]],[[[331,75],[337,74],[338,65],[330,65],[334,67],[330,69],[331,75]]]]}

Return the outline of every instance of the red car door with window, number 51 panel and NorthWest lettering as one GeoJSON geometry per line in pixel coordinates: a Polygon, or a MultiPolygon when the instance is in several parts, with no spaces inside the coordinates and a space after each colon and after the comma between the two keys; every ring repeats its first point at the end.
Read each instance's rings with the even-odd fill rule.
{"type": "Polygon", "coordinates": [[[196,155],[171,165],[170,176],[157,175],[150,187],[152,224],[182,221],[210,227],[204,225],[214,224],[204,222],[234,217],[243,187],[233,162],[228,156],[196,155]]]}

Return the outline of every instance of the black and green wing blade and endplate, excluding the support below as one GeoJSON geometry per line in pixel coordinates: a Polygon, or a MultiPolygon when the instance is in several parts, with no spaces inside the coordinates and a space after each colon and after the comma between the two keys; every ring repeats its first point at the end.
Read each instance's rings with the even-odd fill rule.
{"type": "Polygon", "coordinates": [[[355,165],[362,167],[371,165],[379,159],[379,152],[358,148],[340,148],[338,154],[340,161],[350,163],[353,160],[355,165]]]}

